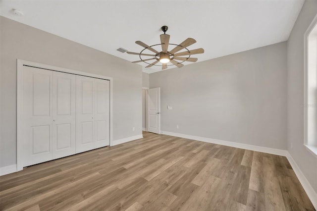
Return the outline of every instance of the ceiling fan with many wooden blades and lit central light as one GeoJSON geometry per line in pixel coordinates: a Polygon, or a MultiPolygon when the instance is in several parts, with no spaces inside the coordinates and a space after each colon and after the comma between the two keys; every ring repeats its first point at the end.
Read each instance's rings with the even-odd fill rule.
{"type": "Polygon", "coordinates": [[[193,58],[190,57],[193,54],[199,54],[199,53],[204,53],[204,49],[200,48],[200,49],[195,49],[195,50],[188,50],[187,47],[190,45],[193,45],[194,43],[196,43],[196,40],[194,40],[193,38],[187,38],[186,40],[184,40],[181,44],[176,45],[176,44],[170,44],[169,43],[169,35],[165,34],[165,32],[167,31],[168,27],[167,26],[162,26],[161,30],[164,32],[164,34],[161,34],[160,37],[160,44],[157,45],[153,45],[153,46],[148,46],[147,44],[141,42],[141,41],[136,41],[135,43],[142,46],[144,49],[140,52],[140,53],[134,53],[134,52],[127,52],[128,54],[134,54],[134,55],[139,55],[141,60],[138,61],[132,61],[133,63],[138,63],[138,62],[145,62],[147,64],[149,64],[147,67],[152,67],[153,65],[155,66],[162,66],[162,70],[166,69],[167,66],[171,66],[171,65],[176,65],[177,67],[182,67],[184,66],[182,63],[184,61],[190,61],[190,62],[196,62],[197,58],[193,58]],[[159,52],[157,50],[155,50],[154,46],[158,46],[161,45],[162,47],[162,51],[159,52]],[[168,51],[168,46],[175,46],[172,50],[168,51]],[[149,50],[155,54],[148,54],[148,53],[143,53],[144,50],[149,50]],[[186,51],[184,52],[179,52],[180,50],[186,49],[186,51]],[[147,59],[143,59],[142,56],[152,56],[152,58],[147,58],[147,59]],[[185,57],[182,57],[183,55],[186,55],[185,57]],[[153,63],[148,63],[147,61],[150,60],[155,60],[153,63]],[[157,65],[157,63],[160,62],[162,63],[161,65],[157,65]],[[167,65],[167,63],[170,62],[172,64],[167,65]]]}

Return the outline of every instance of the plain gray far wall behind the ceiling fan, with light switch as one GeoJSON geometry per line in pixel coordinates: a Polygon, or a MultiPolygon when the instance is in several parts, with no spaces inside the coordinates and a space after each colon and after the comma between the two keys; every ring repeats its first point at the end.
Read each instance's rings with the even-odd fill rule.
{"type": "Polygon", "coordinates": [[[283,42],[150,74],[161,130],[285,150],[286,51],[283,42]]]}

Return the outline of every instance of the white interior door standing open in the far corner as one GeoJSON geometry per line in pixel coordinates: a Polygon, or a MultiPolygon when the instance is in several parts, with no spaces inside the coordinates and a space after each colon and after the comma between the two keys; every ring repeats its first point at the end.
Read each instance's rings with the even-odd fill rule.
{"type": "Polygon", "coordinates": [[[148,131],[160,134],[160,88],[148,90],[148,131]]]}

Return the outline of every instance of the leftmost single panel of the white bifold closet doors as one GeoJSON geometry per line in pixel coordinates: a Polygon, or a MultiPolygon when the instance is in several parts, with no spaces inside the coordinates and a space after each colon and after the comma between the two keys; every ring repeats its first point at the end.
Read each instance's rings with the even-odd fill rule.
{"type": "Polygon", "coordinates": [[[22,165],[52,159],[52,71],[23,67],[22,165]]]}

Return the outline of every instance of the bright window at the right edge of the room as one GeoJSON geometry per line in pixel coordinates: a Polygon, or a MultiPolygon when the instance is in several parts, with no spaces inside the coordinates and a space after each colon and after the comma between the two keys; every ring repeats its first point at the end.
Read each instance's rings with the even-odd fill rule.
{"type": "Polygon", "coordinates": [[[317,157],[317,16],[305,33],[304,145],[317,157]]]}

